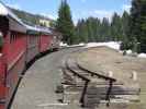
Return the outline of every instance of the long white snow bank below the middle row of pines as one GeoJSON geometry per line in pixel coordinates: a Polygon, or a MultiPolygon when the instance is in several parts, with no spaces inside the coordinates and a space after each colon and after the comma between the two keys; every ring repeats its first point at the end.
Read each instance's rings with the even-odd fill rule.
{"type": "Polygon", "coordinates": [[[120,43],[117,41],[109,41],[109,43],[89,43],[87,44],[86,48],[90,47],[99,47],[99,46],[106,46],[116,50],[120,50],[120,43]]]}

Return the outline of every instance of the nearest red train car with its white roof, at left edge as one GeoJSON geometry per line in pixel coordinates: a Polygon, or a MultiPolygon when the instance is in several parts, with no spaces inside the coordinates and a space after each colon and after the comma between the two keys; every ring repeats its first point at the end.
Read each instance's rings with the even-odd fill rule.
{"type": "Polygon", "coordinates": [[[2,3],[0,3],[0,33],[3,38],[0,59],[0,109],[7,109],[25,68],[26,27],[2,3]]]}

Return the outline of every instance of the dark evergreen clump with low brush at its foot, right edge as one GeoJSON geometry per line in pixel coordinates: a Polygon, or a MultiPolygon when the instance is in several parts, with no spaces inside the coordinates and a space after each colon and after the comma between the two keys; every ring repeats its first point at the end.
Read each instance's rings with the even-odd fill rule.
{"type": "Polygon", "coordinates": [[[146,52],[146,0],[132,0],[127,43],[123,43],[128,48],[137,52],[146,52]]]}

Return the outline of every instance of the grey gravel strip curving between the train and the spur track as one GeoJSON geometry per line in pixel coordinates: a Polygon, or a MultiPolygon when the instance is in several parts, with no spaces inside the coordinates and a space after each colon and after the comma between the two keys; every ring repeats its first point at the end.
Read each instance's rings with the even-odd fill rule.
{"type": "Polygon", "coordinates": [[[11,109],[77,109],[59,105],[55,89],[60,83],[63,59],[78,49],[61,49],[37,60],[22,78],[11,109]]]}

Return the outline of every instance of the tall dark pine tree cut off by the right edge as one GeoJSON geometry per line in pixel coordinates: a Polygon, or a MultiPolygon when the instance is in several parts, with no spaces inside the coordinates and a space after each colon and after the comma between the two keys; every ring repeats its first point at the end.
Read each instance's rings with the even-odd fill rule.
{"type": "Polygon", "coordinates": [[[146,52],[146,0],[133,0],[131,9],[131,37],[141,43],[141,51],[146,52]]]}

